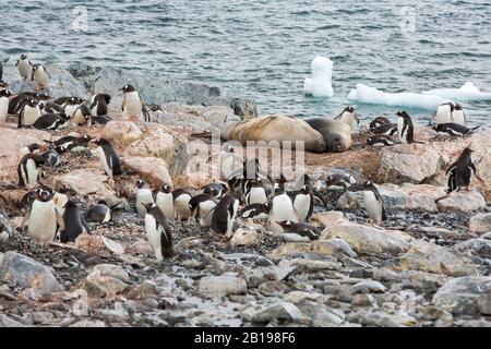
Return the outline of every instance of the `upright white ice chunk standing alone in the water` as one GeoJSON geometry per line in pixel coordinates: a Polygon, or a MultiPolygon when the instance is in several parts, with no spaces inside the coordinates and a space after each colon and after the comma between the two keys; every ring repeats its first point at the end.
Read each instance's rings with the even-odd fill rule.
{"type": "Polygon", "coordinates": [[[331,80],[333,77],[333,61],[328,58],[318,56],[311,63],[312,79],[307,77],[303,82],[306,95],[314,97],[333,97],[334,91],[331,80]]]}

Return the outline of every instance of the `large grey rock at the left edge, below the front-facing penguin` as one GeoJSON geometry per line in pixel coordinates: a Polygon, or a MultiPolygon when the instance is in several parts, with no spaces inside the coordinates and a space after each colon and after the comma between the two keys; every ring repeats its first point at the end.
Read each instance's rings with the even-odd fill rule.
{"type": "Polygon", "coordinates": [[[41,293],[63,290],[63,287],[46,266],[12,251],[3,254],[0,264],[0,281],[22,289],[33,288],[41,293]]]}

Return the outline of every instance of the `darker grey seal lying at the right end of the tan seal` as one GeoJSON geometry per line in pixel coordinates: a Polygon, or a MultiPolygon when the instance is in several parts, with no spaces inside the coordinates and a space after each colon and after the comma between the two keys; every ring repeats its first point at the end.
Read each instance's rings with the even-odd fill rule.
{"type": "Polygon", "coordinates": [[[324,118],[310,118],[304,121],[324,136],[324,152],[339,153],[351,146],[351,128],[345,122],[324,118]]]}

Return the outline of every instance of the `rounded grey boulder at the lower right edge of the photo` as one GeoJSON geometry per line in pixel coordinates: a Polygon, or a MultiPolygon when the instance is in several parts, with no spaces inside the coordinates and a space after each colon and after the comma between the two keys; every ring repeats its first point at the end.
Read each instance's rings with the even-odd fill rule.
{"type": "Polygon", "coordinates": [[[490,276],[459,277],[446,281],[434,294],[433,303],[454,315],[476,316],[483,299],[491,294],[490,276]]]}

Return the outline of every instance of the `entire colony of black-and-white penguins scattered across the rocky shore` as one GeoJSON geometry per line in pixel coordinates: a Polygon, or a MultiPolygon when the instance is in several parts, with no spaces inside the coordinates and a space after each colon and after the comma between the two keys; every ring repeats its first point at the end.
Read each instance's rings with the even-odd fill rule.
{"type": "MultiPolygon", "coordinates": [[[[53,131],[105,124],[111,120],[108,116],[111,96],[97,94],[89,100],[77,96],[53,99],[39,92],[49,84],[50,75],[46,67],[31,63],[26,55],[21,55],[15,67],[22,80],[36,82],[37,92],[15,95],[8,89],[7,83],[0,81],[0,122],[5,122],[9,115],[17,118],[19,128],[53,131]]],[[[122,86],[120,91],[124,95],[121,105],[123,118],[149,122],[148,112],[137,91],[131,85],[122,86]]],[[[415,140],[411,117],[404,110],[397,111],[395,116],[395,122],[385,117],[378,117],[370,122],[368,145],[421,143],[415,140]]],[[[360,122],[351,106],[333,119],[349,128],[360,122]]],[[[477,129],[467,128],[462,107],[453,103],[440,106],[432,121],[435,122],[433,130],[451,136],[466,136],[477,129]]],[[[80,201],[70,188],[58,188],[55,191],[41,183],[43,169],[60,166],[67,152],[89,152],[89,148],[95,147],[100,165],[111,180],[131,173],[123,170],[121,160],[108,140],[69,135],[46,143],[47,146],[31,144],[20,149],[17,185],[27,190],[23,198],[26,210],[23,227],[40,244],[55,240],[75,241],[80,234],[91,233],[95,225],[110,222],[115,207],[100,198],[82,212],[80,201]]],[[[465,148],[447,169],[447,194],[470,185],[470,178],[476,172],[471,153],[470,148],[465,148]]],[[[265,221],[274,233],[283,234],[285,239],[319,239],[320,230],[309,221],[316,200],[325,207],[327,204],[309,174],[287,179],[279,173],[271,178],[260,168],[258,158],[249,158],[243,161],[242,168],[233,170],[236,159],[235,149],[229,145],[224,146],[218,154],[221,181],[214,181],[199,190],[172,188],[170,183],[151,188],[143,179],[135,182],[135,210],[158,262],[172,256],[172,232],[177,225],[187,225],[192,220],[226,238],[233,236],[238,219],[254,219],[265,221]],[[292,180],[297,182],[290,183],[292,185],[288,189],[288,183],[292,180]]],[[[371,222],[381,224],[390,218],[383,197],[372,182],[357,183],[350,173],[337,171],[325,178],[325,185],[337,186],[343,191],[354,190],[356,186],[355,190],[362,192],[364,208],[371,222]]]]}

